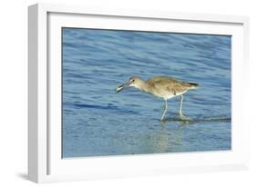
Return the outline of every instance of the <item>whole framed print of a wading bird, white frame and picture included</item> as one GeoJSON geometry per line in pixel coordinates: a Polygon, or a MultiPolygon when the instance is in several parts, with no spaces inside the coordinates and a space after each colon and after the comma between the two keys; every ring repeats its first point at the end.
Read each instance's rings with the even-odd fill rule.
{"type": "Polygon", "coordinates": [[[247,17],[28,13],[30,180],[248,168],[247,17]]]}

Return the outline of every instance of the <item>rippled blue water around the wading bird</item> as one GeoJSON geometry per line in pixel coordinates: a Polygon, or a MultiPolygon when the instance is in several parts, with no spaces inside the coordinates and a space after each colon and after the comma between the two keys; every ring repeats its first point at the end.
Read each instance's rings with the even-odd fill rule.
{"type": "Polygon", "coordinates": [[[63,157],[231,149],[228,35],[63,28],[63,157]],[[131,75],[200,84],[164,102],[118,85],[131,75]]]}

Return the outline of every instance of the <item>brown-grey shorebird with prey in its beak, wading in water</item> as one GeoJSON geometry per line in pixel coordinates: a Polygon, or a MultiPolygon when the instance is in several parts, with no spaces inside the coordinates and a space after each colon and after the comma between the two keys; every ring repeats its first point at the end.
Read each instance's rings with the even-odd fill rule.
{"type": "Polygon", "coordinates": [[[164,116],[167,112],[168,103],[167,101],[173,97],[180,96],[179,104],[179,117],[181,120],[189,120],[188,117],[182,114],[182,103],[183,103],[183,94],[187,93],[191,89],[195,89],[199,84],[187,83],[180,81],[178,79],[169,77],[169,76],[154,76],[147,81],[143,79],[132,76],[129,78],[128,82],[117,87],[117,93],[128,87],[136,87],[138,90],[153,94],[157,97],[160,97],[165,102],[164,112],[160,118],[160,121],[163,122],[164,116]]]}

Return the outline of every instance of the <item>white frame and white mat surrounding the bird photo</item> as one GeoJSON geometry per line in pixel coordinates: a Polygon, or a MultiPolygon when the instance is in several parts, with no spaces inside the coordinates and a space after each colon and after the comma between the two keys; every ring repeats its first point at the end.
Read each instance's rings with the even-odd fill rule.
{"type": "Polygon", "coordinates": [[[248,71],[249,19],[234,15],[200,15],[160,11],[36,4],[28,8],[28,178],[61,182],[110,177],[249,168],[249,123],[243,111],[248,71]],[[88,18],[89,17],[89,18],[88,18]],[[106,22],[108,19],[108,22],[106,22]],[[118,25],[119,22],[127,22],[118,25]],[[141,24],[140,22],[143,22],[141,24]],[[169,28],[169,25],[176,25],[169,28]],[[154,28],[150,25],[154,26],[154,28]],[[122,28],[172,32],[231,34],[232,149],[229,152],[168,153],[97,158],[61,158],[59,78],[62,26],[122,28]],[[55,63],[53,63],[55,62],[55,63]],[[241,125],[242,124],[242,125],[241,125]]]}

